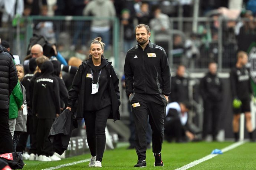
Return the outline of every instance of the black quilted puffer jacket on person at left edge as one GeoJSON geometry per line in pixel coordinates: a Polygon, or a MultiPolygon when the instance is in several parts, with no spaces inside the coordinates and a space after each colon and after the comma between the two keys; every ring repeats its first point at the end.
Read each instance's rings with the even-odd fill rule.
{"type": "Polygon", "coordinates": [[[0,45],[0,109],[9,108],[9,96],[18,82],[18,75],[12,57],[0,45]]]}

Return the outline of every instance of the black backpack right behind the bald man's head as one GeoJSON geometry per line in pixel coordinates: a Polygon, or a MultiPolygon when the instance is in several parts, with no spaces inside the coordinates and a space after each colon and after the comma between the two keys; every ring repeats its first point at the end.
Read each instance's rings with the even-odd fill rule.
{"type": "Polygon", "coordinates": [[[33,37],[29,39],[29,45],[27,46],[27,55],[30,54],[31,48],[35,44],[40,44],[43,47],[43,55],[45,55],[46,57],[52,57],[55,55],[52,44],[50,44],[43,35],[35,33],[33,34],[33,37]]]}

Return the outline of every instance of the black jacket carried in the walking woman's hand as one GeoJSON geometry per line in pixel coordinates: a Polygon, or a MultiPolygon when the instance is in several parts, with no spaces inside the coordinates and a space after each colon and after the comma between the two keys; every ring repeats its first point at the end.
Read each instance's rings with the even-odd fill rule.
{"type": "Polygon", "coordinates": [[[77,120],[69,109],[65,109],[52,124],[48,139],[53,144],[55,152],[62,154],[69,145],[71,132],[78,127],[77,120]]]}

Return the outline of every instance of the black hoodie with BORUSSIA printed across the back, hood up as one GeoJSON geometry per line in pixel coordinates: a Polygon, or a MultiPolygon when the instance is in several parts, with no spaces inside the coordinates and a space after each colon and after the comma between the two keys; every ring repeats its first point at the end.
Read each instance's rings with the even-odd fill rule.
{"type": "Polygon", "coordinates": [[[33,114],[39,119],[53,119],[60,114],[59,82],[53,76],[50,61],[41,66],[42,75],[36,78],[33,92],[33,114]]]}

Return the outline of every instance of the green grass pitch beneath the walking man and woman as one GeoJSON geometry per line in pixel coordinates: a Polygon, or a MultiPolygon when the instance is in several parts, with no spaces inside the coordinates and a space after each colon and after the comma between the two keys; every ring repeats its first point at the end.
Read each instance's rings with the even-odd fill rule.
{"type": "MultiPolygon", "coordinates": [[[[147,150],[147,170],[166,169],[174,170],[182,167],[194,160],[207,156],[214,149],[223,149],[231,145],[232,142],[198,142],[198,143],[163,143],[162,159],[164,167],[154,167],[154,156],[152,149],[147,150]]],[[[127,144],[128,146],[128,144],[127,144]]],[[[114,150],[106,150],[102,161],[102,170],[134,170],[137,163],[137,154],[135,150],[127,150],[126,147],[118,147],[114,150]]],[[[79,160],[89,159],[90,154],[70,157],[57,162],[39,162],[24,160],[26,165],[23,170],[41,170],[50,167],[56,167],[62,164],[77,162],[79,160]]],[[[60,170],[84,170],[99,169],[88,167],[88,162],[79,163],[72,166],[60,168],[60,170]]],[[[200,163],[191,169],[209,169],[209,170],[249,170],[256,169],[256,143],[245,143],[232,150],[224,152],[210,160],[200,163]]]]}

